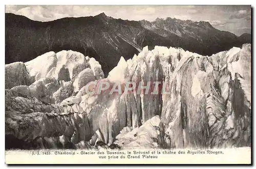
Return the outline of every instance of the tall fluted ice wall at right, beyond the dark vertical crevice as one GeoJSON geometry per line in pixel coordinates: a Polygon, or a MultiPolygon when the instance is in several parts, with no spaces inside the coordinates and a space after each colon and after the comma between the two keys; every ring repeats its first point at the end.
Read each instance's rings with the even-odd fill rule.
{"type": "Polygon", "coordinates": [[[250,44],[179,62],[161,117],[169,147],[250,146],[250,63],[250,44]]]}

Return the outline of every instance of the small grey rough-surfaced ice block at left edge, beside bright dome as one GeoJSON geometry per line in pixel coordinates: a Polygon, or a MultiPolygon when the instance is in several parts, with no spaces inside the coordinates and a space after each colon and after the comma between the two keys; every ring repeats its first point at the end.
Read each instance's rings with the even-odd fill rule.
{"type": "Polygon", "coordinates": [[[23,62],[15,62],[5,65],[5,89],[19,85],[31,85],[32,80],[26,65],[23,62]]]}

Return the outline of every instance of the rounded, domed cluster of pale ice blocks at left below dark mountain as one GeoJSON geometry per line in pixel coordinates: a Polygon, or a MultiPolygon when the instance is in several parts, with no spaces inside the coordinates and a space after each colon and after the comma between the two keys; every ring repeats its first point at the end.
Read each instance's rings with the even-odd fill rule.
{"type": "Polygon", "coordinates": [[[6,89],[12,88],[25,96],[51,104],[60,103],[75,95],[88,82],[101,78],[104,74],[94,58],[84,57],[82,53],[72,50],[62,50],[57,54],[51,51],[25,64],[6,65],[6,89]],[[11,85],[13,79],[19,80],[11,85]]]}

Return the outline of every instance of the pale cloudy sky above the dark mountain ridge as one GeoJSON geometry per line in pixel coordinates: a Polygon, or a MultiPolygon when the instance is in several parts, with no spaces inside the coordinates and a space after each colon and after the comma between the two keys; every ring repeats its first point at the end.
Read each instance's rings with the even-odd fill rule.
{"type": "Polygon", "coordinates": [[[102,12],[113,18],[128,20],[153,21],[166,17],[202,20],[236,35],[251,32],[250,6],[6,6],[6,13],[24,15],[38,21],[95,16],[102,12]]]}

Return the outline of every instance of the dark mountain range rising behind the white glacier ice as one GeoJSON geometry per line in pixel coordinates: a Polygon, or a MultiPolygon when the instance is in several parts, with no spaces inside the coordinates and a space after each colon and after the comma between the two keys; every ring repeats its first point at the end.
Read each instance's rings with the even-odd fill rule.
{"type": "Polygon", "coordinates": [[[181,47],[212,55],[250,43],[250,35],[238,37],[215,29],[209,22],[175,18],[129,21],[101,13],[96,16],[61,18],[40,22],[6,13],[6,64],[27,62],[48,51],[79,51],[95,58],[108,74],[123,56],[138,54],[144,46],[181,47]]]}

